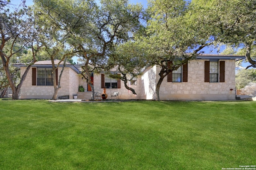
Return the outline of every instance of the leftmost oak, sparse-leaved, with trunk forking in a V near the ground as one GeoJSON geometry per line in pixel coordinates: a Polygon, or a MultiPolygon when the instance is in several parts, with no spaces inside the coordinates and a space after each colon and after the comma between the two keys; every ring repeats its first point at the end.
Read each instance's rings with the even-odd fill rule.
{"type": "Polygon", "coordinates": [[[12,99],[18,99],[20,87],[30,69],[36,62],[36,53],[40,49],[38,43],[38,30],[33,13],[24,2],[10,10],[9,5],[4,6],[0,12],[0,56],[2,59],[3,69],[6,73],[10,87],[12,88],[12,99]],[[20,83],[16,84],[10,71],[10,60],[24,50],[30,49],[31,55],[26,57],[28,67],[20,78],[20,83]]]}

